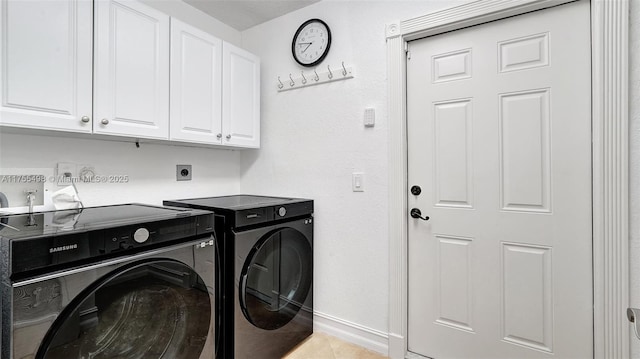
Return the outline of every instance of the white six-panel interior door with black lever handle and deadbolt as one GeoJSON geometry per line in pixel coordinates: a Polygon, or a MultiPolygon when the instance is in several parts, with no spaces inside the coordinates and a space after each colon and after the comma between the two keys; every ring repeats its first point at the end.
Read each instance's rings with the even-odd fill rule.
{"type": "Polygon", "coordinates": [[[409,44],[409,351],[593,356],[589,34],[579,1],[409,44]]]}

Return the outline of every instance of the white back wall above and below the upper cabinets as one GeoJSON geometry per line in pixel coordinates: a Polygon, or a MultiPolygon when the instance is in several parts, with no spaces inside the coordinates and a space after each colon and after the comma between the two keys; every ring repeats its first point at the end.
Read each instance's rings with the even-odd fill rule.
{"type": "MultiPolygon", "coordinates": [[[[143,0],[148,5],[223,40],[239,45],[241,34],[180,0],[143,0]]],[[[168,55],[168,54],[167,54],[168,55]]],[[[169,71],[169,69],[167,69],[169,71]]],[[[167,101],[169,99],[167,98],[167,101]]],[[[162,204],[163,199],[235,194],[240,190],[240,154],[212,148],[112,142],[72,137],[8,133],[0,128],[0,169],[53,168],[58,162],[90,164],[100,175],[128,175],[124,184],[78,183],[86,206],[127,202],[162,204]],[[191,164],[193,180],[177,182],[175,166],[191,164]]],[[[57,190],[62,187],[53,187],[57,190]]],[[[13,190],[0,183],[0,191],[13,190]]],[[[26,205],[26,197],[9,193],[11,206],[26,205]],[[24,200],[16,203],[16,198],[24,200]]],[[[38,201],[42,203],[42,194],[38,201]]]]}

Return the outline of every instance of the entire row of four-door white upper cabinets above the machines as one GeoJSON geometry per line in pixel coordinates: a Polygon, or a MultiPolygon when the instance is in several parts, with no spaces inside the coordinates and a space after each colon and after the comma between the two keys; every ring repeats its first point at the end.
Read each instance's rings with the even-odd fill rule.
{"type": "Polygon", "coordinates": [[[0,126],[260,147],[260,60],[136,0],[1,0],[0,126]]]}

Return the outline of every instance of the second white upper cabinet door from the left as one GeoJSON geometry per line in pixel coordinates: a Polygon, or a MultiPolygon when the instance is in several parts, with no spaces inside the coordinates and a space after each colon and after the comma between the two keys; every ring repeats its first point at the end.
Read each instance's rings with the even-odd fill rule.
{"type": "Polygon", "coordinates": [[[132,0],[98,0],[94,133],[169,138],[169,16],[132,0]]]}

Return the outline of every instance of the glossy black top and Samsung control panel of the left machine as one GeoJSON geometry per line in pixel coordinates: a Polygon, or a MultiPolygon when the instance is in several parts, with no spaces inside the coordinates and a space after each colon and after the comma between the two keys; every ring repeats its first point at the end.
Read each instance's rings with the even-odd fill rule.
{"type": "Polygon", "coordinates": [[[0,216],[0,280],[24,279],[202,238],[211,211],[142,204],[0,216]]]}

